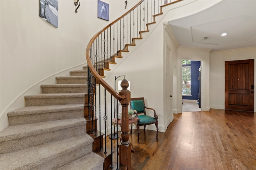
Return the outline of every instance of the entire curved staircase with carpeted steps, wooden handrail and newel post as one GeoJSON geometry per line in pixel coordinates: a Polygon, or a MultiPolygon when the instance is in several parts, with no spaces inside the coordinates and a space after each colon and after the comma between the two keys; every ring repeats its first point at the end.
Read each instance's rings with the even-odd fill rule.
{"type": "MultiPolygon", "coordinates": [[[[173,3],[179,1],[181,0],[173,3]]],[[[142,3],[140,2],[139,4],[142,3]]],[[[142,33],[148,32],[148,26],[156,23],[155,17],[161,14],[163,14],[162,10],[160,10],[159,14],[152,16],[153,22],[146,23],[146,30],[139,31],[140,37],[132,38],[130,43],[126,43],[124,48],[120,47],[119,50],[119,47],[116,47],[116,49],[113,47],[116,52],[111,53],[109,55],[111,57],[106,61],[101,59],[101,63],[100,61],[97,63],[95,59],[90,59],[90,57],[105,55],[97,54],[97,51],[100,51],[99,45],[97,49],[97,38],[99,40],[99,35],[107,28],[102,29],[102,32],[95,35],[86,48],[86,60],[93,74],[92,77],[96,78],[97,84],[102,84],[114,98],[124,104],[122,117],[128,116],[127,106],[129,101],[126,101],[126,99],[130,92],[124,91],[121,94],[117,94],[102,79],[106,76],[104,71],[110,70],[110,65],[116,64],[116,60],[122,58],[122,52],[128,53],[128,48],[135,46],[135,41],[142,39],[142,33]],[[93,41],[95,39],[96,48],[94,50],[93,41]],[[90,48],[92,49],[90,50],[90,48]]],[[[113,23],[118,21],[121,20],[118,19],[113,23]]],[[[104,44],[104,52],[102,50],[101,52],[105,53],[105,39],[101,39],[101,41],[103,42],[101,45],[104,44]]],[[[100,43],[98,42],[98,44],[100,43]]],[[[0,132],[1,170],[105,170],[110,168],[111,160],[109,154],[112,151],[108,151],[108,155],[98,152],[103,145],[99,142],[99,140],[103,141],[103,134],[97,131],[97,124],[93,123],[94,121],[96,122],[97,118],[92,117],[91,119],[88,115],[90,106],[87,105],[88,94],[87,84],[85,84],[87,75],[87,67],[84,67],[84,70],[71,71],[70,76],[56,77],[56,84],[42,85],[42,94],[25,96],[25,107],[8,113],[9,127],[0,132]],[[92,130],[96,131],[98,135],[91,133],[92,130]],[[98,152],[98,154],[95,152],[98,152]],[[100,154],[101,156],[99,156],[100,154]]],[[[93,101],[93,98],[89,100],[93,101]]],[[[125,130],[122,131],[122,133],[125,132],[125,138],[122,138],[122,140],[124,141],[125,139],[126,141],[124,142],[127,142],[129,126],[127,124],[124,127],[128,128],[121,128],[125,130]]],[[[119,145],[120,155],[125,155],[120,157],[127,159],[120,159],[120,168],[124,165],[123,169],[131,169],[130,150],[130,143],[128,145],[119,145]]]]}

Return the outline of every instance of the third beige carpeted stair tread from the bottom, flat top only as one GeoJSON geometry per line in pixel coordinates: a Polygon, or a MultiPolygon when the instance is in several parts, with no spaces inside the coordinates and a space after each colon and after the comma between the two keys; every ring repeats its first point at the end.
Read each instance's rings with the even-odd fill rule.
{"type": "Polygon", "coordinates": [[[57,131],[79,125],[86,125],[86,120],[84,117],[8,126],[1,131],[0,142],[57,131]]]}

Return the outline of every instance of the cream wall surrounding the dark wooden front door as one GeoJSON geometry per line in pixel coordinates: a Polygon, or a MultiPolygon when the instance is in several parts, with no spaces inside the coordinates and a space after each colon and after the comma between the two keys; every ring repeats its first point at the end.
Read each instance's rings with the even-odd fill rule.
{"type": "MultiPolygon", "coordinates": [[[[225,61],[254,59],[256,47],[216,51],[210,53],[210,108],[225,109],[225,61]]],[[[254,84],[256,67],[254,66],[254,84]]],[[[254,86],[255,87],[255,86],[254,86]]],[[[254,93],[254,99],[255,99],[254,93]]],[[[254,102],[254,111],[256,102],[254,102]]]]}

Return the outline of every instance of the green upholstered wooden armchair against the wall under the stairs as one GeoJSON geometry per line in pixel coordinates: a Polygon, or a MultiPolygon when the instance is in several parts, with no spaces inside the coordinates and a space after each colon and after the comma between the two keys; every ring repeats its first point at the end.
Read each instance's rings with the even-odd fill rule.
{"type": "Polygon", "coordinates": [[[146,125],[155,124],[156,125],[156,139],[158,139],[158,116],[156,115],[155,109],[148,108],[145,106],[144,98],[131,98],[130,108],[134,110],[136,114],[137,121],[137,130],[138,130],[138,143],[140,143],[140,126],[144,126],[144,131],[146,125]],[[146,115],[146,109],[151,109],[154,111],[154,117],[146,115]],[[141,114],[144,113],[144,114],[141,114]],[[138,115],[141,114],[141,115],[138,115]]]}

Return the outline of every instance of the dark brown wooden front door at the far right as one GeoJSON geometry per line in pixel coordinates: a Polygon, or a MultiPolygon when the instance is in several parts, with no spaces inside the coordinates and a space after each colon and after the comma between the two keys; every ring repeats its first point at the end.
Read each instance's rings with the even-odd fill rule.
{"type": "Polygon", "coordinates": [[[254,59],[225,62],[225,109],[254,111],[254,59]]]}

